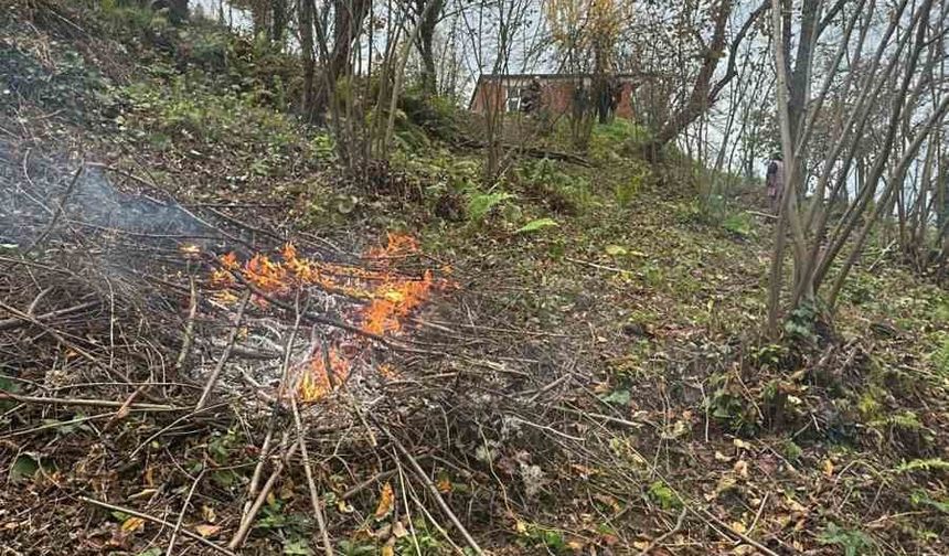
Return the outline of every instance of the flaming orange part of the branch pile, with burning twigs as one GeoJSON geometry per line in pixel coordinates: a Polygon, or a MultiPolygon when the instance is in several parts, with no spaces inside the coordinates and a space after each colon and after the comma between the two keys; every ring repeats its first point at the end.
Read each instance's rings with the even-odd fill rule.
{"type": "MultiPolygon", "coordinates": [[[[234,252],[221,256],[211,285],[216,288],[214,298],[226,306],[237,303],[236,290],[249,287],[250,300],[262,311],[270,306],[270,299],[295,298],[299,310],[301,293],[319,296],[317,303],[326,308],[345,306],[339,312],[351,327],[320,333],[305,360],[295,365],[291,384],[281,384],[301,402],[316,402],[344,385],[354,367],[371,367],[373,339],[401,334],[405,319],[428,299],[433,287],[448,285],[444,279],[435,280],[430,269],[413,277],[392,268],[393,260],[418,253],[418,244],[410,236],[390,234],[385,246],[374,247],[363,257],[367,266],[353,266],[301,257],[294,244],[287,243],[280,249],[280,260],[260,253],[243,264],[234,252]],[[332,339],[329,342],[328,336],[332,339]]],[[[378,370],[392,372],[384,364],[378,370]]]]}

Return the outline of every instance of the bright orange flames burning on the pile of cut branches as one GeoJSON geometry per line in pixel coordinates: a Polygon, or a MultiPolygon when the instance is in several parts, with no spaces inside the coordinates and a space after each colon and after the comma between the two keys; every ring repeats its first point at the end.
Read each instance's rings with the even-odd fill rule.
{"type": "MultiPolygon", "coordinates": [[[[230,290],[237,286],[236,275],[266,296],[287,297],[298,288],[319,287],[331,293],[363,301],[351,312],[354,323],[367,334],[376,336],[396,335],[403,331],[404,320],[428,300],[436,281],[431,270],[422,277],[406,276],[392,268],[392,261],[419,253],[418,242],[405,234],[388,234],[384,246],[373,247],[364,255],[373,264],[371,268],[339,265],[301,257],[294,244],[280,249],[279,259],[255,254],[241,264],[234,253],[220,258],[220,268],[211,274],[211,284],[218,288],[216,299],[222,302],[235,300],[230,290]]],[[[259,296],[256,296],[259,298],[259,296]]],[[[266,302],[263,298],[255,302],[266,302]]],[[[344,384],[355,360],[369,346],[364,338],[345,340],[351,349],[340,344],[321,350],[299,370],[296,387],[302,402],[314,402],[344,384]],[[352,349],[356,345],[358,349],[352,349]],[[329,368],[327,368],[329,362],[329,368]]]]}

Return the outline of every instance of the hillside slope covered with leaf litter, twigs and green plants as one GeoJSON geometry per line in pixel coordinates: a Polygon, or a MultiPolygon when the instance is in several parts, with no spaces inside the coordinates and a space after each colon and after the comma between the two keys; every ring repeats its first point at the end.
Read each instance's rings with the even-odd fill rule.
{"type": "Polygon", "coordinates": [[[285,111],[288,56],[90,6],[0,14],[4,547],[221,553],[274,477],[242,554],[319,552],[311,495],[339,554],[949,553],[949,296],[885,249],[832,330],[770,343],[759,192],[703,195],[719,177],[636,159],[632,125],[486,189],[409,115],[366,183],[285,111]],[[322,304],[221,296],[220,256],[287,242],[345,275],[322,304]],[[424,282],[397,334],[350,330],[424,282]],[[295,415],[298,334],[328,377],[338,340],[365,368],[295,415]]]}

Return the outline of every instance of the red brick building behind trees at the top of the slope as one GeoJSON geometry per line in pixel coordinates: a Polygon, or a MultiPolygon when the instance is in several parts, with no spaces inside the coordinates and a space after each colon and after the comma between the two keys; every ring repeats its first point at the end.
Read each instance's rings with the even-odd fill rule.
{"type": "MultiPolygon", "coordinates": [[[[509,113],[521,110],[521,99],[526,94],[531,82],[537,78],[541,83],[541,107],[553,116],[569,115],[578,86],[587,92],[591,89],[590,74],[489,74],[478,78],[468,109],[476,114],[484,114],[492,106],[503,105],[509,113]]],[[[632,94],[639,83],[637,76],[619,74],[611,76],[619,86],[619,98],[616,116],[632,119],[632,94]]]]}

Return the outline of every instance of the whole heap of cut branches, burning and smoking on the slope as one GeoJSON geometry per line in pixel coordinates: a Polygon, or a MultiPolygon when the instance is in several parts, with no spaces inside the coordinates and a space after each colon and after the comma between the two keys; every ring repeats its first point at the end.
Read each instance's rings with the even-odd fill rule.
{"type": "MultiPolygon", "coordinates": [[[[280,484],[306,484],[327,554],[354,535],[391,546],[416,510],[445,543],[479,553],[466,526],[526,511],[553,484],[544,469],[563,467],[545,462],[580,440],[550,425],[577,411],[548,399],[573,379],[550,364],[568,346],[512,335],[497,309],[476,321],[486,311],[412,236],[353,255],[267,226],[263,209],[248,226],[122,170],[0,154],[0,462],[25,450],[39,469],[76,470],[68,483],[84,490],[60,471],[45,488],[132,516],[88,533],[84,549],[130,549],[145,520],[181,530],[178,544],[271,552],[255,533],[260,512],[280,484]],[[60,424],[79,432],[51,445],[60,424]],[[182,474],[185,461],[201,471],[182,474]],[[139,474],[92,471],[115,468],[139,474]],[[209,521],[182,500],[195,490],[239,511],[195,525],[209,521]],[[177,525],[154,515],[159,503],[180,509],[177,525]],[[354,520],[353,505],[377,506],[385,526],[354,520]]],[[[82,514],[49,518],[86,528],[82,514]]]]}

